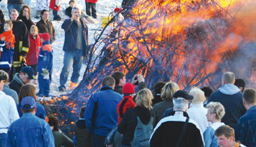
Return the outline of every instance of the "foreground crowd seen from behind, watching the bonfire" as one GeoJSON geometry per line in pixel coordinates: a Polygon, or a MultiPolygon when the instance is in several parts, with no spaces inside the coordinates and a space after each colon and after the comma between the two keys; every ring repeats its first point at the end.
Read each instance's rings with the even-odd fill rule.
{"type": "MultiPolygon", "coordinates": [[[[20,79],[33,75],[28,68],[20,79]]],[[[46,116],[33,85],[21,85],[17,96],[6,83],[8,73],[0,70],[0,147],[256,147],[256,91],[232,72],[215,92],[193,87],[187,93],[159,81],[153,96],[142,75],[129,83],[116,71],[80,108],[73,139],[56,116],[46,116]]]]}

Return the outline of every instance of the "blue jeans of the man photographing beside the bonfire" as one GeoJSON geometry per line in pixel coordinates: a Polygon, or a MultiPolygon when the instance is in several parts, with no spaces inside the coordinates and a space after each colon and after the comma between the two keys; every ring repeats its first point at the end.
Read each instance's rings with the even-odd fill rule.
{"type": "Polygon", "coordinates": [[[71,64],[73,63],[73,73],[71,76],[71,82],[77,83],[78,78],[80,76],[80,70],[83,62],[83,51],[75,50],[75,51],[65,51],[63,68],[60,73],[59,83],[60,86],[58,89],[66,88],[65,84],[68,80],[71,64]]]}

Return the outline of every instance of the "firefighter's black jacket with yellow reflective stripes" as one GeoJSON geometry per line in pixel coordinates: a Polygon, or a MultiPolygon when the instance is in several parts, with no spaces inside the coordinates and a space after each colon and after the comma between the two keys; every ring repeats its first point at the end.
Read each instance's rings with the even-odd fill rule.
{"type": "Polygon", "coordinates": [[[22,21],[13,21],[13,25],[15,36],[13,66],[21,67],[22,57],[29,49],[28,29],[22,21]]]}

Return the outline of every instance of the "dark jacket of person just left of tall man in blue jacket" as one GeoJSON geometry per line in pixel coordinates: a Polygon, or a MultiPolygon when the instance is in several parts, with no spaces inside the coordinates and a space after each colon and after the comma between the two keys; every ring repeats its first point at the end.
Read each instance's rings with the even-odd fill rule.
{"type": "Polygon", "coordinates": [[[76,147],[92,147],[92,135],[86,127],[85,119],[79,119],[74,124],[76,147]]]}

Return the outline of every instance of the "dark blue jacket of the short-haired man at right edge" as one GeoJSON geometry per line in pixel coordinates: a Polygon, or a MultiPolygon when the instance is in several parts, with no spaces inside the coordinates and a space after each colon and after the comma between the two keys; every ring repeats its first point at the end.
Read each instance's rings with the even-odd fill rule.
{"type": "Polygon", "coordinates": [[[256,105],[238,120],[235,137],[246,147],[256,147],[256,105]]]}

